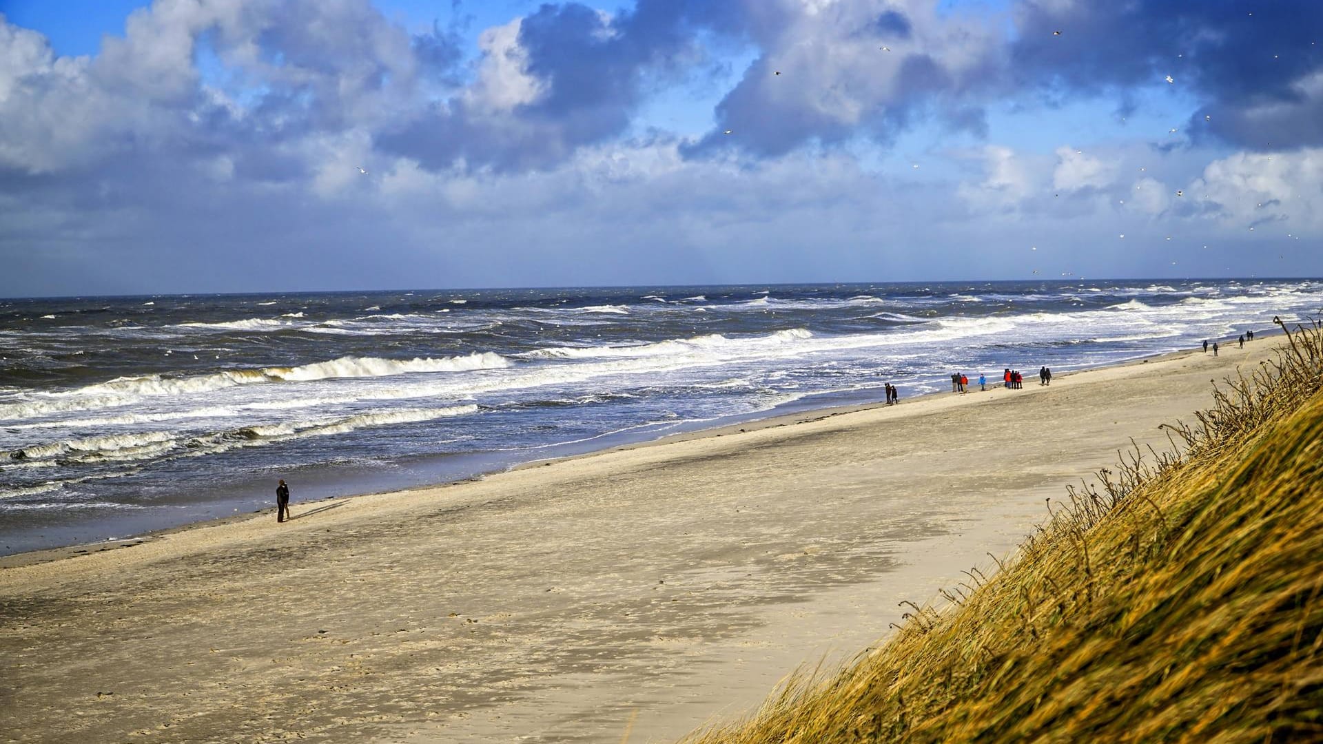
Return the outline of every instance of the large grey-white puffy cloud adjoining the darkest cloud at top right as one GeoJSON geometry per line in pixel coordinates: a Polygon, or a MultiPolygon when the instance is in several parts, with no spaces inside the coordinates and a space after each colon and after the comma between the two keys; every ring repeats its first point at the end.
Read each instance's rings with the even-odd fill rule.
{"type": "Polygon", "coordinates": [[[917,119],[986,131],[982,97],[968,94],[1002,73],[988,28],[925,3],[769,5],[782,8],[781,23],[747,25],[762,56],[717,105],[716,130],[684,148],[688,156],[728,148],[778,156],[859,136],[889,143],[917,119]]]}

